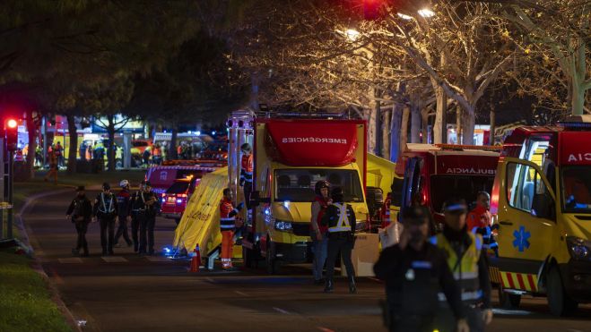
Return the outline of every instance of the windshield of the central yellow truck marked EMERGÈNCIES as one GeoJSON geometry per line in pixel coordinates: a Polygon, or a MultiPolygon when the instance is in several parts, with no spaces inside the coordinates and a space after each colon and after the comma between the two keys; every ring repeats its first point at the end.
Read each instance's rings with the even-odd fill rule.
{"type": "Polygon", "coordinates": [[[275,201],[312,201],[314,186],[326,180],[332,188],[342,187],[344,200],[362,202],[361,181],[356,171],[345,169],[279,169],[275,171],[275,201]]]}

